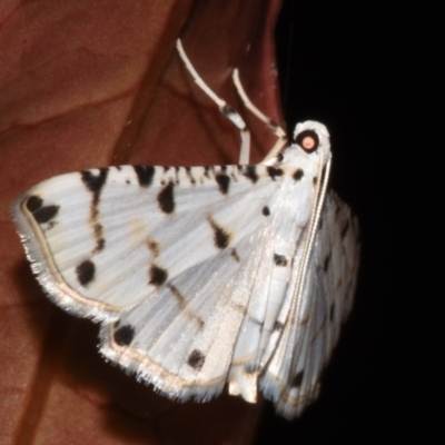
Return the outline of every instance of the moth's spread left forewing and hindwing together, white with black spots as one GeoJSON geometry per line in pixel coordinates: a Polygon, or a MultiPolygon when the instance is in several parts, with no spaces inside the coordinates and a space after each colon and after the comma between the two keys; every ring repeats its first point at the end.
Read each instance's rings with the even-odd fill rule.
{"type": "Polygon", "coordinates": [[[224,385],[260,263],[273,265],[273,172],[87,170],[36,186],[12,214],[51,299],[105,322],[107,357],[172,397],[204,399],[224,385]]]}

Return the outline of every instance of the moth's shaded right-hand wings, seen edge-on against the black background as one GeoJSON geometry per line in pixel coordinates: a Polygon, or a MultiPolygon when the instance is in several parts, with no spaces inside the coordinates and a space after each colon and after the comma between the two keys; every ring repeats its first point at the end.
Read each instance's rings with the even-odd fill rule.
{"type": "Polygon", "coordinates": [[[276,411],[294,418],[316,399],[319,378],[353,304],[358,222],[335,192],[326,196],[304,290],[261,379],[276,411]]]}

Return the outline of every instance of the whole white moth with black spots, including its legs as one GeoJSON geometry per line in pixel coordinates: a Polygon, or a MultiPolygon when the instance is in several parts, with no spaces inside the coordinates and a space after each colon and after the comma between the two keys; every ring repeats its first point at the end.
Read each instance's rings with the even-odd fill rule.
{"type": "MultiPolygon", "coordinates": [[[[186,67],[221,111],[243,119],[186,67]]],[[[327,191],[329,136],[298,123],[258,165],[122,166],[57,176],[12,204],[32,270],[52,301],[101,323],[100,350],[171,398],[226,383],[290,419],[319,378],[352,304],[358,226],[327,191]]]]}

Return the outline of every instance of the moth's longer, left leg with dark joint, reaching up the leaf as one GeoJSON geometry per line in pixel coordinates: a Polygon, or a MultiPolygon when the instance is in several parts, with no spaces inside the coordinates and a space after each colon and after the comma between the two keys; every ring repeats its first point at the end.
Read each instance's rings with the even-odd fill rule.
{"type": "Polygon", "coordinates": [[[248,130],[245,121],[241,117],[231,108],[225,100],[215,95],[215,92],[208,87],[208,85],[200,78],[195,67],[191,65],[189,58],[186,55],[186,51],[182,48],[182,43],[180,39],[176,41],[176,48],[178,49],[179,56],[184,61],[187,70],[190,72],[195,82],[198,87],[218,106],[219,111],[227,119],[229,119],[233,123],[235,123],[239,128],[239,132],[241,136],[241,148],[239,154],[239,164],[249,164],[249,155],[250,155],[250,131],[248,130]]]}

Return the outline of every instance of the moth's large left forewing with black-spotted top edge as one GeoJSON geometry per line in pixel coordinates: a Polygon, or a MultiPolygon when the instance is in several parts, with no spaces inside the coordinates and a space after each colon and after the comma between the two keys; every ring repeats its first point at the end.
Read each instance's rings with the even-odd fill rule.
{"type": "Polygon", "coordinates": [[[49,297],[108,323],[167,278],[229,251],[244,236],[235,227],[251,228],[249,218],[261,224],[261,200],[275,185],[267,168],[255,166],[108,167],[43,181],[11,211],[49,297]],[[234,202],[239,221],[230,220],[239,215],[234,202]]]}

